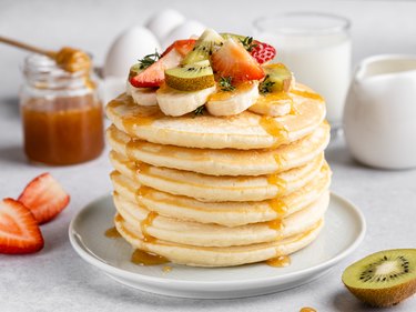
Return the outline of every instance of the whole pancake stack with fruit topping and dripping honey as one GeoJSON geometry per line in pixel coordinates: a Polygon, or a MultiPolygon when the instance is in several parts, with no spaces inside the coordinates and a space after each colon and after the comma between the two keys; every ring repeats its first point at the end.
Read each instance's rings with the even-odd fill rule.
{"type": "Polygon", "coordinates": [[[284,266],[317,238],[332,175],[325,102],[270,63],[275,53],[207,29],[132,66],[106,105],[106,139],[114,224],[133,249],[284,266]]]}

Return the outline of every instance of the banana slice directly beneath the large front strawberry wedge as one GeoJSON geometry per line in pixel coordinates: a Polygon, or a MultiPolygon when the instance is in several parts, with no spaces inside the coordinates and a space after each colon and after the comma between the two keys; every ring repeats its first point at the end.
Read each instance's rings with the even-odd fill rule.
{"type": "Polygon", "coordinates": [[[257,98],[258,81],[248,81],[234,91],[220,91],[213,94],[205,107],[213,115],[234,115],[253,105],[257,98]]]}

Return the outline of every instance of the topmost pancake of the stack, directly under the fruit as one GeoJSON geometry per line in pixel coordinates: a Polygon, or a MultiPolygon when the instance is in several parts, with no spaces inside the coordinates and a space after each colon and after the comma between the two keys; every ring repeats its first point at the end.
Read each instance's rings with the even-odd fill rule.
{"type": "Polygon", "coordinates": [[[125,93],[106,105],[106,115],[130,137],[186,148],[266,149],[311,134],[325,119],[325,104],[311,89],[296,84],[288,95],[295,114],[262,117],[244,111],[233,117],[163,115],[159,107],[141,107],[125,93]]]}

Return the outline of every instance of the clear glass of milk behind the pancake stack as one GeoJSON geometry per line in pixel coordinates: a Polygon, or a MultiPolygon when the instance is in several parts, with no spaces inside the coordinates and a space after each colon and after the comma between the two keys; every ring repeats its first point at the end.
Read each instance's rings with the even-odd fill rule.
{"type": "Polygon", "coordinates": [[[255,38],[277,50],[275,62],[286,64],[296,81],[307,84],[327,105],[327,119],[339,128],[351,80],[349,21],[317,12],[290,12],[260,18],[255,38]]]}

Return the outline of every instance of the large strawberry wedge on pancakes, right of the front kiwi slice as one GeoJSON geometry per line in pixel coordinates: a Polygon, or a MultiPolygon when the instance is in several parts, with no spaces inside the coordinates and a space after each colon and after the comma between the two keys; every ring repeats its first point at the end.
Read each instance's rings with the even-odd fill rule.
{"type": "Polygon", "coordinates": [[[234,81],[260,80],[264,71],[255,59],[234,39],[227,39],[212,54],[212,68],[222,77],[232,77],[234,81]]]}

